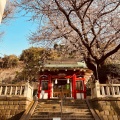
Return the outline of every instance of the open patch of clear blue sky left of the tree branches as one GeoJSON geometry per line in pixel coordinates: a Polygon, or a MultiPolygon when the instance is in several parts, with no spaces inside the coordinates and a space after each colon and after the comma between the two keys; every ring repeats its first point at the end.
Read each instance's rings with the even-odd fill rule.
{"type": "Polygon", "coordinates": [[[28,19],[28,17],[18,17],[5,25],[0,24],[0,31],[5,32],[0,38],[0,57],[11,54],[19,56],[23,50],[32,46],[27,38],[31,31],[35,31],[37,25],[28,19]]]}

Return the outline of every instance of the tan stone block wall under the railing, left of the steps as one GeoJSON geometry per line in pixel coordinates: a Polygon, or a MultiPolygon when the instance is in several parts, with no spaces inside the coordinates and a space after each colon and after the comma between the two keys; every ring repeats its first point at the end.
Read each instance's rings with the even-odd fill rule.
{"type": "Polygon", "coordinates": [[[0,120],[19,120],[31,100],[20,96],[0,96],[0,120]]]}

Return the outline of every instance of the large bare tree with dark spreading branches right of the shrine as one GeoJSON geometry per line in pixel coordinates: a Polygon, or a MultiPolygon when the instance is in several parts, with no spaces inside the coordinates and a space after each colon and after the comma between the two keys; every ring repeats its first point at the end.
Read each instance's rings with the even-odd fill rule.
{"type": "Polygon", "coordinates": [[[120,49],[119,0],[21,0],[32,19],[47,24],[30,37],[32,42],[62,40],[84,55],[98,80],[98,69],[120,49]]]}

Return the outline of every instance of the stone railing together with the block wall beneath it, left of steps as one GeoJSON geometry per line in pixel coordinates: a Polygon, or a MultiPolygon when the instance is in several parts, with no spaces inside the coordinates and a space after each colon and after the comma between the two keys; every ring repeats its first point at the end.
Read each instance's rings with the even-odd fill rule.
{"type": "Polygon", "coordinates": [[[32,100],[29,83],[0,84],[0,120],[19,120],[32,100]]]}

